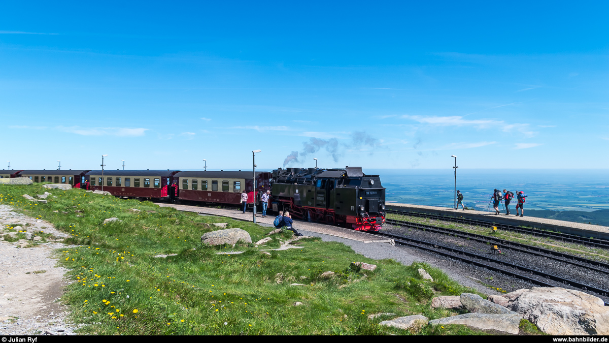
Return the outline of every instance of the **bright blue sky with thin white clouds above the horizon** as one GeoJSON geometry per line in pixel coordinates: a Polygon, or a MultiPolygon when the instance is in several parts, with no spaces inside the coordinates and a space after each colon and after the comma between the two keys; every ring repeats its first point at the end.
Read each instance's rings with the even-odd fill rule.
{"type": "Polygon", "coordinates": [[[608,10],[2,2],[0,161],[609,168],[608,10]]]}

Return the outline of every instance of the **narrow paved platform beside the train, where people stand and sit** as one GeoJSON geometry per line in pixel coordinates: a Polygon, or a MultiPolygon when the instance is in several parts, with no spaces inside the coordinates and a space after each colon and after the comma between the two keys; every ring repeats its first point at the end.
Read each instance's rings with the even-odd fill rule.
{"type": "MultiPolygon", "coordinates": [[[[207,208],[200,206],[191,206],[191,205],[181,205],[181,204],[167,204],[167,203],[157,203],[160,207],[172,207],[177,209],[178,211],[188,211],[195,212],[199,214],[208,214],[208,215],[217,215],[218,217],[228,217],[237,220],[244,220],[247,222],[253,222],[252,212],[243,212],[239,209],[234,208],[207,208]]],[[[261,212],[258,212],[256,216],[256,223],[259,223],[262,226],[270,226],[271,229],[275,229],[273,226],[273,221],[275,220],[274,215],[269,215],[269,217],[262,218],[261,212]]],[[[312,233],[319,234],[327,234],[329,236],[341,237],[344,239],[356,240],[357,242],[362,243],[387,243],[391,245],[395,245],[393,239],[379,239],[378,236],[373,234],[365,233],[362,231],[355,231],[353,229],[340,228],[339,226],[326,225],[323,223],[315,223],[315,222],[306,222],[304,220],[294,220],[294,228],[297,231],[305,230],[311,231],[312,233]]],[[[269,229],[269,231],[271,231],[269,229]]]]}

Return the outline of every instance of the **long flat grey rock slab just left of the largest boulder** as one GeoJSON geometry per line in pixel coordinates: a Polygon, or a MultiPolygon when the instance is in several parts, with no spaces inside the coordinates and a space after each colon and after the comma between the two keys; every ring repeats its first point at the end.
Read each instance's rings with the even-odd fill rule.
{"type": "Polygon", "coordinates": [[[516,314],[466,313],[459,316],[430,320],[430,325],[461,324],[481,330],[497,330],[518,334],[522,317],[516,314]]]}

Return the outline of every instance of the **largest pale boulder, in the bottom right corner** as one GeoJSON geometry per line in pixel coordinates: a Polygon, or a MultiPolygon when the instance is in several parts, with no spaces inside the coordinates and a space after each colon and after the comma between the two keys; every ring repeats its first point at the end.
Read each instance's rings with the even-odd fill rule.
{"type": "Polygon", "coordinates": [[[552,335],[609,334],[609,307],[572,289],[532,287],[506,294],[509,307],[539,330],[552,335]]]}

